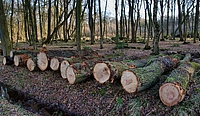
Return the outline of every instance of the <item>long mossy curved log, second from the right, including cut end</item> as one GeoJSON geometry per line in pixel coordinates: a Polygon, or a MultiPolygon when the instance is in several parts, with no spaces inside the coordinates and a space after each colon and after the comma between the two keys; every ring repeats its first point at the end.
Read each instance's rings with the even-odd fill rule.
{"type": "Polygon", "coordinates": [[[124,70],[121,84],[128,93],[147,89],[159,81],[159,76],[176,67],[177,59],[169,56],[153,61],[146,67],[124,70]]]}

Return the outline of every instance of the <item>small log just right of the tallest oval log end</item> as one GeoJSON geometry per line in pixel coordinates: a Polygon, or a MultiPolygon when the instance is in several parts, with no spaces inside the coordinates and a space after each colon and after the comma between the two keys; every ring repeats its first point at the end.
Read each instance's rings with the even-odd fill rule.
{"type": "Polygon", "coordinates": [[[50,59],[50,68],[53,70],[53,71],[57,71],[60,67],[60,63],[64,60],[64,58],[51,58],[50,59]]]}

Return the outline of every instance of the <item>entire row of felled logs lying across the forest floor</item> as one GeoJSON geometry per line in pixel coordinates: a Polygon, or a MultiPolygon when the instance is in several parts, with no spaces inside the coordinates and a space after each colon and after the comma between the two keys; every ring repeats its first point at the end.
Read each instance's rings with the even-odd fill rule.
{"type": "Polygon", "coordinates": [[[49,55],[43,50],[39,52],[15,50],[11,51],[10,56],[4,56],[3,64],[26,65],[29,71],[51,69],[59,72],[69,84],[83,82],[92,76],[101,84],[119,80],[128,93],[150,88],[160,80],[161,75],[171,71],[159,89],[159,96],[165,105],[173,106],[183,100],[190,78],[195,70],[200,69],[200,64],[191,63],[190,59],[191,55],[186,54],[181,61],[165,56],[130,62],[106,60],[91,52],[63,57],[49,55]]]}

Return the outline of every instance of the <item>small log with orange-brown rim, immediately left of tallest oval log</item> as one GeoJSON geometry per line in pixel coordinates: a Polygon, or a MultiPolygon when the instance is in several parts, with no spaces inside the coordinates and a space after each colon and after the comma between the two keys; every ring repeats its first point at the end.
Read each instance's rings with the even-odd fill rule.
{"type": "Polygon", "coordinates": [[[37,58],[28,58],[26,62],[26,67],[28,68],[29,71],[34,71],[37,68],[37,58]]]}

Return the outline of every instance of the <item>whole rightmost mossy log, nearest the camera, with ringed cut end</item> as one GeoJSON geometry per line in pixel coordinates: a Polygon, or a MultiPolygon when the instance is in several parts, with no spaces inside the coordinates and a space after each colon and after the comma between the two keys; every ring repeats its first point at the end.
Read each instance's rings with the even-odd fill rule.
{"type": "Polygon", "coordinates": [[[180,66],[170,73],[165,83],[160,87],[159,96],[163,104],[173,106],[185,97],[189,80],[194,75],[195,70],[200,69],[200,64],[189,62],[190,58],[191,56],[187,54],[180,66]]]}

